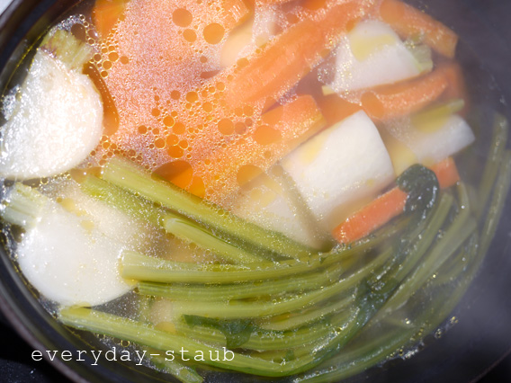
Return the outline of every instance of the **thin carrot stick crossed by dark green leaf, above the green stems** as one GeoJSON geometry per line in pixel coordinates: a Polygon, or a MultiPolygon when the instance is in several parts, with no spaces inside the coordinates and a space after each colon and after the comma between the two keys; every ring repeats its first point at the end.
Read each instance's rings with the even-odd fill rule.
{"type": "MultiPolygon", "coordinates": [[[[460,181],[460,175],[452,157],[433,165],[431,170],[435,172],[438,184],[443,189],[460,181]]],[[[407,199],[408,194],[401,191],[399,187],[395,187],[346,218],[343,223],[334,228],[332,235],[341,244],[349,244],[368,236],[390,219],[399,216],[405,209],[407,199]]]]}

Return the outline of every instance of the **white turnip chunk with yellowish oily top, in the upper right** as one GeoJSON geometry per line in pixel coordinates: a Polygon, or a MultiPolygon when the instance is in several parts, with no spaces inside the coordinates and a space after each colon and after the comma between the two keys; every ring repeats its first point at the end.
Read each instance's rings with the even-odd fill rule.
{"type": "Polygon", "coordinates": [[[329,86],[338,94],[393,84],[423,71],[396,32],[375,20],[359,22],[335,54],[336,76],[329,86]]]}

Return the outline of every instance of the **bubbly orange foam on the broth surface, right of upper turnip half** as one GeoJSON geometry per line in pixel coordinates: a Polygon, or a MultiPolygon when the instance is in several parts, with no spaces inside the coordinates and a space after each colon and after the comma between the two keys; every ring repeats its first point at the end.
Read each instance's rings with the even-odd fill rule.
{"type": "MultiPolygon", "coordinates": [[[[260,146],[267,148],[259,160],[264,162],[273,156],[272,145],[282,139],[274,128],[279,116],[263,113],[274,100],[232,105],[224,96],[229,84],[238,81],[238,72],[249,64],[247,58],[238,58],[233,67],[220,67],[223,44],[243,19],[242,13],[229,13],[219,0],[185,5],[133,2],[101,40],[94,27],[76,27],[76,34],[96,49],[92,62],[97,74],[93,76],[103,84],[98,86],[103,99],[114,105],[115,111],[109,112],[117,116],[110,118],[117,125],[105,129],[94,153],[95,163],[128,156],[215,201],[220,200],[219,190],[229,194],[264,172],[264,166],[245,160],[247,154],[241,149],[230,158],[236,166],[224,164],[228,159],[218,155],[233,144],[260,146]],[[220,167],[222,172],[229,168],[230,179],[215,174],[220,167]]],[[[298,19],[299,15],[290,13],[280,25],[283,28],[298,19]]],[[[258,22],[271,34],[270,16],[258,22]]],[[[255,54],[261,51],[254,50],[255,54]]]]}

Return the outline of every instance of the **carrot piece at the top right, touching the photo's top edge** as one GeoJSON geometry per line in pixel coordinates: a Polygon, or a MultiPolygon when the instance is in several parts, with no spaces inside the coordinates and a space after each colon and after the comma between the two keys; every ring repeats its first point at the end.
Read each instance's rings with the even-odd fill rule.
{"type": "Polygon", "coordinates": [[[380,17],[405,38],[421,38],[447,58],[456,53],[458,36],[442,22],[399,0],[383,0],[380,17]]]}

